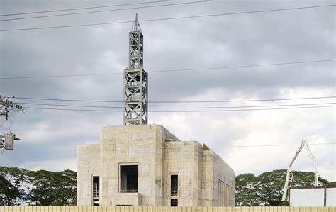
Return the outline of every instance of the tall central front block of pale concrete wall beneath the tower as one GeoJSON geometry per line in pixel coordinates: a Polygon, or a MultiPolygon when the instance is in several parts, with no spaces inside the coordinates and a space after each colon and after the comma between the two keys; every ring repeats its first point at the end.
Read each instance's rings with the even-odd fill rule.
{"type": "MultiPolygon", "coordinates": [[[[161,206],[163,145],[164,130],[159,125],[104,127],[101,132],[101,204],[115,204],[111,197],[120,192],[120,165],[138,164],[142,206],[161,206]]],[[[128,196],[123,197],[126,198],[128,196]]]]}

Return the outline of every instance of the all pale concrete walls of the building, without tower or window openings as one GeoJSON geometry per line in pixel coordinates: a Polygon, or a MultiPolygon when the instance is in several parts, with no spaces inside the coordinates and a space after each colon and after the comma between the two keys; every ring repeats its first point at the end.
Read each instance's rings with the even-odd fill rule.
{"type": "Polygon", "coordinates": [[[77,205],[92,204],[92,176],[100,177],[103,206],[170,206],[170,176],[179,177],[179,206],[233,206],[218,202],[218,179],[233,185],[235,173],[196,141],[179,141],[161,125],[106,126],[100,143],[77,151],[77,205]],[[138,165],[138,195],[120,189],[120,166],[138,165]]]}

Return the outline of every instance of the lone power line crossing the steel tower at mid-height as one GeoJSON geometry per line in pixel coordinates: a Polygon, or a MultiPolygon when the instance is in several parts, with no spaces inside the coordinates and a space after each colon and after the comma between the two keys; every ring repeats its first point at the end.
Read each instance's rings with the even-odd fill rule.
{"type": "MultiPolygon", "coordinates": [[[[264,67],[264,66],[277,66],[277,65],[295,65],[306,64],[315,62],[331,62],[336,59],[329,60],[306,60],[296,62],[277,62],[268,64],[254,64],[254,65],[235,65],[235,66],[223,66],[223,67],[203,67],[203,68],[191,68],[191,69],[163,69],[157,71],[148,71],[148,73],[160,73],[160,72],[188,72],[188,71],[201,71],[201,70],[218,70],[218,69],[231,69],[231,68],[245,68],[245,67],[264,67]]],[[[62,74],[62,75],[41,75],[41,76],[26,76],[26,77],[0,77],[0,79],[34,79],[34,78],[52,78],[52,77],[84,77],[84,76],[101,76],[101,75],[114,75],[123,74],[123,72],[111,72],[111,73],[96,73],[96,74],[62,74]]]]}

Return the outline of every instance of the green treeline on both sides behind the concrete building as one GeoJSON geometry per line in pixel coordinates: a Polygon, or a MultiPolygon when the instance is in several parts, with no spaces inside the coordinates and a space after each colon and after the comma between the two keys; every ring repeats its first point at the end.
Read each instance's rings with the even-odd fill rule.
{"type": "MultiPolygon", "coordinates": [[[[236,206],[279,206],[282,204],[286,170],[274,170],[255,176],[236,177],[236,206]]],[[[313,172],[295,172],[292,186],[313,186],[313,172]]],[[[336,186],[319,177],[320,186],[336,186]]],[[[76,172],[29,171],[0,167],[0,205],[76,205],[76,172]]]]}

